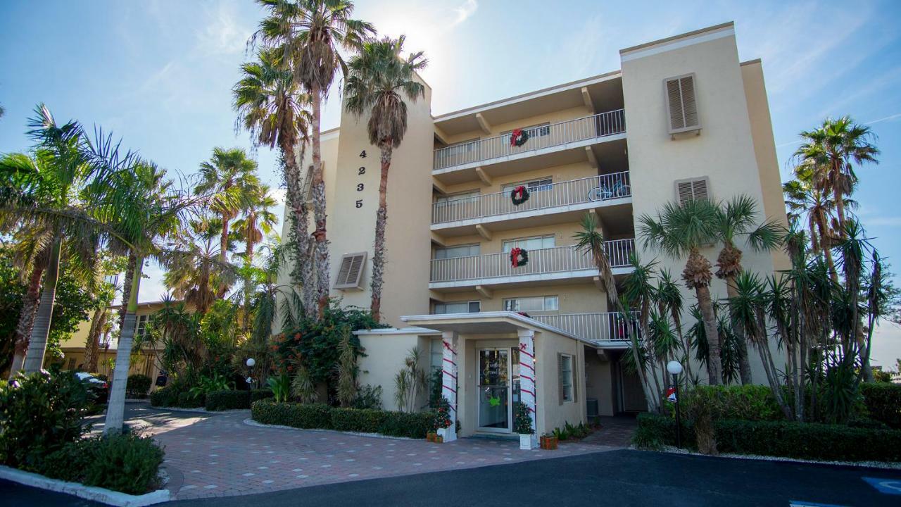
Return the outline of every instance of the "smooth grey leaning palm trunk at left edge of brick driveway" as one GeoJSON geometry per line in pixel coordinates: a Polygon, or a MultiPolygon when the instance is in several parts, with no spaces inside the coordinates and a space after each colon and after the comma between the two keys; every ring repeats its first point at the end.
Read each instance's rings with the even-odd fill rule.
{"type": "Polygon", "coordinates": [[[104,434],[120,433],[123,429],[125,415],[125,384],[128,383],[128,370],[131,367],[132,343],[134,340],[135,312],[138,311],[138,290],[141,288],[141,267],[143,259],[134,256],[134,272],[129,281],[128,303],[123,320],[123,327],[119,332],[119,346],[115,355],[115,369],[113,371],[113,385],[110,387],[109,403],[106,407],[106,421],[104,434]]]}

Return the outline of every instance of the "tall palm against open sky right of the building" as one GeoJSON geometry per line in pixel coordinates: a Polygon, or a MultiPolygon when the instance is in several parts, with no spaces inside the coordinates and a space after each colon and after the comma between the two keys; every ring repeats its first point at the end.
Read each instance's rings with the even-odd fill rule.
{"type": "Polygon", "coordinates": [[[797,148],[795,158],[802,171],[812,171],[817,188],[833,194],[837,228],[842,236],[846,224],[844,196],[850,196],[857,184],[852,163],[878,163],[879,150],[870,143],[876,136],[869,126],[855,124],[851,116],[842,116],[837,120],[826,118],[820,127],[802,132],[801,137],[805,141],[797,148]]]}

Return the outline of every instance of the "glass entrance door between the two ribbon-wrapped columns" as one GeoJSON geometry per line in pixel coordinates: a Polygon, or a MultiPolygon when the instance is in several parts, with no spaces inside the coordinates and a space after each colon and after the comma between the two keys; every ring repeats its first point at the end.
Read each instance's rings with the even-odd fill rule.
{"type": "Polygon", "coordinates": [[[510,360],[509,348],[478,351],[478,429],[482,431],[513,431],[510,360]]]}

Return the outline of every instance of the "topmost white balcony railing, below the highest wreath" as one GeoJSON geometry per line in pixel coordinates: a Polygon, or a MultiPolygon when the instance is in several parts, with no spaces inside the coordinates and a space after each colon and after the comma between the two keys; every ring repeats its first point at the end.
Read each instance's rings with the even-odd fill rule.
{"type": "Polygon", "coordinates": [[[487,161],[516,153],[541,150],[561,144],[576,143],[597,137],[623,134],[623,109],[585,116],[558,124],[538,125],[523,129],[529,139],[522,146],[511,146],[510,135],[502,134],[469,143],[454,144],[435,150],[434,169],[445,169],[471,162],[487,161]]]}

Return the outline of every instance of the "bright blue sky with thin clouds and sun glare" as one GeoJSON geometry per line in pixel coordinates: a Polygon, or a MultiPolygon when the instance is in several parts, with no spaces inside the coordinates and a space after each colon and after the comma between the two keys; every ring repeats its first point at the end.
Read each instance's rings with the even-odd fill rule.
{"type": "MultiPolygon", "coordinates": [[[[880,163],[858,170],[854,197],[871,243],[901,259],[901,2],[356,4],[380,34],[405,33],[408,50],[425,51],[433,115],[619,69],[622,48],[734,21],[739,58],[763,60],[783,180],[797,133],[827,116],[851,115],[878,135],[880,163]]],[[[25,122],[40,102],[59,121],[103,126],[173,173],[196,172],[215,146],[250,149],[235,129],[231,88],[262,15],[250,0],[0,2],[0,153],[29,147],[25,122]]],[[[335,87],[323,130],[339,121],[335,87]]],[[[254,156],[277,189],[275,153],[254,156]]],[[[159,268],[147,271],[141,300],[159,300],[159,268]]],[[[884,323],[873,364],[893,369],[897,357],[901,327],[884,323]]]]}

